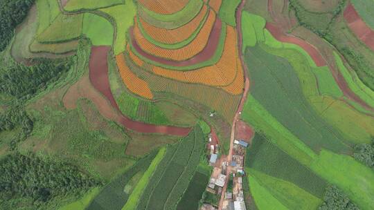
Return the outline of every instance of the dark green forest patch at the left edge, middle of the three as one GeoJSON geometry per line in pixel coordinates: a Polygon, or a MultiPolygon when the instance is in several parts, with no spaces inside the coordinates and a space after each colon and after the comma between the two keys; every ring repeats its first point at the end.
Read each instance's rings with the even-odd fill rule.
{"type": "Polygon", "coordinates": [[[60,75],[66,73],[73,65],[73,59],[35,59],[33,66],[12,63],[0,67],[0,93],[17,98],[37,93],[55,82],[60,75]]]}

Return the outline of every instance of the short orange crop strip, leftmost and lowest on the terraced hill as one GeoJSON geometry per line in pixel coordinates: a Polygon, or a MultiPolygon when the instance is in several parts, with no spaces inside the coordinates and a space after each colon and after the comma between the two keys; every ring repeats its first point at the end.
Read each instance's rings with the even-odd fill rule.
{"type": "Polygon", "coordinates": [[[116,62],[122,80],[127,86],[127,88],[136,95],[140,95],[141,97],[145,97],[147,99],[152,99],[153,94],[150,88],[148,87],[148,83],[145,82],[143,79],[137,77],[134,73],[132,73],[132,71],[126,64],[125,56],[122,53],[116,55],[116,62]]]}

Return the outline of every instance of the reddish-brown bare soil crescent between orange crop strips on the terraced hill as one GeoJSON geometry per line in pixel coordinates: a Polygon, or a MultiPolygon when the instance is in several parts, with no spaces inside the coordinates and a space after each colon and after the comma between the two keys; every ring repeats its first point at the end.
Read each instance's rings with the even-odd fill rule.
{"type": "Polygon", "coordinates": [[[147,59],[156,61],[159,64],[168,65],[168,66],[191,66],[194,64],[199,64],[201,62],[207,61],[208,59],[211,59],[213,57],[215,50],[217,50],[217,46],[220,42],[221,30],[222,30],[222,21],[220,20],[220,18],[217,17],[204,50],[202,50],[200,53],[198,53],[194,57],[191,57],[190,59],[187,59],[185,61],[172,61],[172,60],[164,59],[161,57],[157,57],[157,56],[145,53],[141,49],[141,47],[136,43],[136,41],[134,41],[132,28],[130,28],[130,36],[132,39],[132,46],[134,47],[134,50],[136,50],[140,55],[142,55],[143,57],[147,59]]]}

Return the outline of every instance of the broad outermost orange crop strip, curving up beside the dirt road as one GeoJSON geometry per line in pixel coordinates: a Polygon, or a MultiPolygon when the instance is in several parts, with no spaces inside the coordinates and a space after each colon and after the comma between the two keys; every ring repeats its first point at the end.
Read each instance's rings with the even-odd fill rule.
{"type": "MultiPolygon", "coordinates": [[[[186,72],[154,66],[153,72],[157,75],[176,79],[181,82],[205,84],[208,86],[229,86],[234,82],[236,77],[243,77],[239,74],[237,75],[238,71],[242,71],[242,67],[241,65],[236,65],[238,52],[236,44],[235,29],[231,26],[227,26],[224,51],[220,60],[213,66],[207,66],[198,70],[190,70],[186,72]]],[[[241,79],[241,81],[243,82],[243,79],[241,79]]],[[[241,84],[241,86],[242,85],[243,84],[241,84]]],[[[240,85],[238,85],[238,87],[239,86],[240,85]]],[[[233,93],[238,93],[238,91],[234,91],[235,88],[227,89],[233,91],[233,93]]]]}

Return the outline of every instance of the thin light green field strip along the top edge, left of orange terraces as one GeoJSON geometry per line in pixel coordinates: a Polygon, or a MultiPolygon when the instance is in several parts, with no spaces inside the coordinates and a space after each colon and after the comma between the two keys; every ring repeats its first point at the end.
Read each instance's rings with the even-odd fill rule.
{"type": "Polygon", "coordinates": [[[80,11],[80,10],[95,10],[98,8],[107,8],[110,6],[125,3],[125,0],[69,0],[64,6],[64,10],[80,11]]]}

